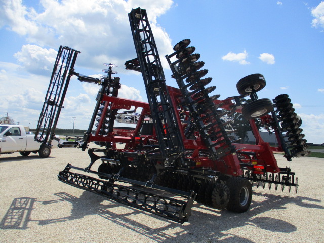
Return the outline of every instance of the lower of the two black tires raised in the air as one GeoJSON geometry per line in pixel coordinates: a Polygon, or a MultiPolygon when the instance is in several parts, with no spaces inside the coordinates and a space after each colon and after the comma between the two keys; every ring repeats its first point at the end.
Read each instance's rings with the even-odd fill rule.
{"type": "Polygon", "coordinates": [[[247,120],[260,118],[271,111],[273,111],[273,104],[266,98],[253,100],[242,108],[242,114],[247,120]]]}

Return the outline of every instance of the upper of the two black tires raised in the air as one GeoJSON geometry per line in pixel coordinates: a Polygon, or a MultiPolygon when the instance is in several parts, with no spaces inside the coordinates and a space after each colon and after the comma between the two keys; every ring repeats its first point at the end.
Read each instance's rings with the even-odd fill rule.
{"type": "Polygon", "coordinates": [[[266,85],[264,76],[262,74],[251,74],[240,79],[236,88],[240,95],[248,95],[252,92],[252,88],[255,92],[262,90],[266,85]]]}

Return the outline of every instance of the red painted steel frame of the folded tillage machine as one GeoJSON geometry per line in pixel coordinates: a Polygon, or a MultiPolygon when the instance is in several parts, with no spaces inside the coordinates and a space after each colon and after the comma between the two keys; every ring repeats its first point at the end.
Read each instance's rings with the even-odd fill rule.
{"type": "MultiPolygon", "coordinates": [[[[167,86],[171,102],[173,107],[179,107],[181,103],[182,94],[178,88],[167,86]]],[[[215,104],[221,104],[220,108],[226,110],[232,110],[232,107],[235,105],[232,102],[233,98],[227,98],[225,100],[215,99],[215,104]]],[[[142,123],[144,122],[144,118],[150,115],[149,104],[146,102],[135,101],[125,98],[118,98],[113,96],[104,95],[102,102],[105,101],[105,106],[102,111],[102,115],[99,121],[98,128],[101,127],[103,120],[105,119],[105,114],[108,109],[108,106],[111,110],[114,109],[125,109],[130,110],[134,107],[134,112],[138,108],[142,108],[140,118],[138,123],[133,131],[123,130],[123,129],[114,129],[112,133],[107,135],[99,135],[99,129],[96,130],[94,135],[89,136],[87,142],[91,141],[103,141],[103,142],[111,142],[112,148],[117,149],[116,143],[125,143],[125,148],[121,150],[133,152],[135,147],[140,143],[145,144],[145,142],[150,140],[155,140],[155,132],[153,131],[152,135],[139,135],[142,123]]],[[[240,109],[236,109],[235,112],[241,113],[240,109]]],[[[182,124],[180,126],[180,133],[182,136],[182,140],[186,150],[191,150],[193,153],[190,157],[186,157],[187,159],[191,159],[195,162],[196,168],[206,168],[215,171],[219,171],[221,174],[232,175],[232,176],[241,176],[242,175],[242,167],[245,169],[251,170],[254,174],[264,174],[265,172],[270,173],[279,173],[280,169],[278,168],[276,159],[273,155],[273,151],[281,152],[280,144],[278,147],[270,147],[269,143],[264,142],[260,136],[258,128],[255,124],[254,120],[250,120],[250,125],[252,132],[256,138],[256,144],[239,144],[232,143],[235,146],[236,151],[240,152],[254,152],[255,157],[247,156],[246,159],[238,159],[237,154],[229,154],[222,157],[219,160],[212,160],[209,157],[199,157],[199,151],[205,150],[207,151],[207,147],[200,140],[199,134],[195,133],[196,139],[188,139],[184,137],[184,129],[186,124],[181,123],[179,113],[176,113],[176,119],[178,124],[182,124]]],[[[271,116],[266,115],[261,118],[262,120],[269,120],[271,116]]],[[[118,149],[120,150],[120,149],[118,149]]]]}

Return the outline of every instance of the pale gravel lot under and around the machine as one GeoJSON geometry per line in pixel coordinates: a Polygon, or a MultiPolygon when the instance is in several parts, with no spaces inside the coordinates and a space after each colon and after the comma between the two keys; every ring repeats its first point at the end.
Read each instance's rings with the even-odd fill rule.
{"type": "Polygon", "coordinates": [[[248,212],[195,203],[179,224],[59,182],[67,163],[89,164],[79,149],[1,155],[0,242],[324,242],[324,159],[275,157],[296,172],[297,194],[253,187],[248,212]]]}

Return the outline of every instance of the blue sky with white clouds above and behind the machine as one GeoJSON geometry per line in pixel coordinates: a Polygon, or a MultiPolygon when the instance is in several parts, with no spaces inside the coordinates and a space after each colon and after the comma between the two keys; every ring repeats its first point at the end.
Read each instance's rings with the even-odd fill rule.
{"type": "MultiPolygon", "coordinates": [[[[120,96],[146,101],[141,75],[124,70],[136,56],[127,14],[147,10],[167,84],[164,56],[182,39],[201,54],[220,99],[236,83],[265,76],[259,98],[288,94],[306,139],[324,142],[324,1],[299,0],[0,0],[0,116],[34,128],[60,45],[81,51],[75,70],[99,77],[118,65],[120,96]]],[[[73,79],[58,127],[87,129],[99,87],[73,79]]]]}

